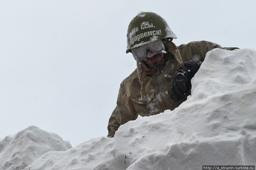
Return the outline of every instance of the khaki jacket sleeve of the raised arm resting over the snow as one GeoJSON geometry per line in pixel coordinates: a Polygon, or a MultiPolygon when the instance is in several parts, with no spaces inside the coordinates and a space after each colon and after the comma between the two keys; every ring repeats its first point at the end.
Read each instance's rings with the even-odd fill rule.
{"type": "Polygon", "coordinates": [[[198,58],[200,62],[204,61],[205,55],[208,51],[214,48],[234,50],[236,47],[222,47],[219,44],[208,41],[195,41],[188,44],[178,46],[183,62],[189,61],[193,58],[198,58]]]}

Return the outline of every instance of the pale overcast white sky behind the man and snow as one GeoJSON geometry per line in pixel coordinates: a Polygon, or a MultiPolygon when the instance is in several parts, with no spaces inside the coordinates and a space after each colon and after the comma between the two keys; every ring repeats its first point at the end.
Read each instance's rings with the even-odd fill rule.
{"type": "Polygon", "coordinates": [[[30,125],[72,146],[106,136],[120,83],[136,69],[126,33],[140,11],[165,18],[176,45],[256,49],[254,0],[1,1],[0,138],[30,125]]]}

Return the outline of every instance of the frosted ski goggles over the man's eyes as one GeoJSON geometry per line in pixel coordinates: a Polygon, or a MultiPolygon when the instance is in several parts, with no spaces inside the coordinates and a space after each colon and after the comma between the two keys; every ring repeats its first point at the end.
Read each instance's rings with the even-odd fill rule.
{"type": "Polygon", "coordinates": [[[142,61],[146,58],[148,51],[156,54],[166,53],[164,43],[158,40],[132,49],[132,55],[136,61],[142,61]]]}

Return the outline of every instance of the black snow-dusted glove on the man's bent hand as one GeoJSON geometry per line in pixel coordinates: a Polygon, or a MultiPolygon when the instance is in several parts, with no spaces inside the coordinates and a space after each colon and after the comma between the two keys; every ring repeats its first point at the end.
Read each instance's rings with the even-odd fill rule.
{"type": "Polygon", "coordinates": [[[191,79],[200,67],[198,59],[192,59],[184,63],[175,73],[171,86],[171,100],[180,101],[191,86],[191,79]]]}

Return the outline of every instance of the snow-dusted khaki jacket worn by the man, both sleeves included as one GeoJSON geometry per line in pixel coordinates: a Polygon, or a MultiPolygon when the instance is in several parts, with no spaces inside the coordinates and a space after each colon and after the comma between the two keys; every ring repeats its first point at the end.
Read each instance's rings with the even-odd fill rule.
{"type": "Polygon", "coordinates": [[[120,84],[117,106],[108,122],[108,137],[113,137],[120,125],[137,119],[138,115],[142,117],[156,115],[167,109],[174,110],[178,107],[191,92],[188,90],[181,101],[171,101],[170,89],[175,72],[186,61],[193,58],[198,58],[202,62],[206,53],[214,48],[236,49],[234,47],[223,48],[218,44],[207,41],[190,42],[178,47],[171,42],[169,61],[167,61],[166,67],[150,76],[142,73],[141,81],[144,90],[142,90],[138,78],[144,68],[140,62],[137,62],[137,69],[120,84]]]}

